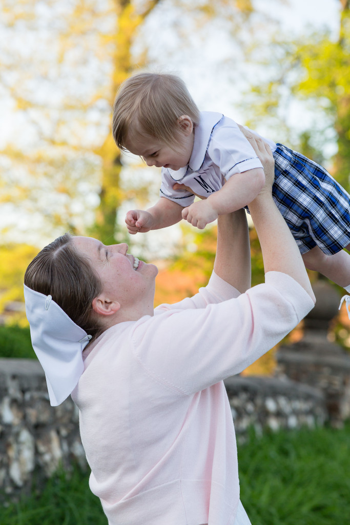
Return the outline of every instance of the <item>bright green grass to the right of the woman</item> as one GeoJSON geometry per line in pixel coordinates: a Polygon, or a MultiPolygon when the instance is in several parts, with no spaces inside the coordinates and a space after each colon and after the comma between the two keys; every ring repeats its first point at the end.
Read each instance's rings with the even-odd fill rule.
{"type": "Polygon", "coordinates": [[[254,525],[345,525],[350,425],[251,434],[239,447],[241,500],[254,525]]]}

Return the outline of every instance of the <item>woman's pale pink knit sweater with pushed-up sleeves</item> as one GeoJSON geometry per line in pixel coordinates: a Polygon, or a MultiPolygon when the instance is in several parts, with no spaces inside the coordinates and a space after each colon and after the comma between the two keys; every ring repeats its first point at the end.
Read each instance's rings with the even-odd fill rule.
{"type": "Polygon", "coordinates": [[[88,346],[72,398],[110,525],[231,525],[239,501],[223,379],[313,308],[291,277],[239,292],[213,274],[193,298],[116,324],[88,346]]]}

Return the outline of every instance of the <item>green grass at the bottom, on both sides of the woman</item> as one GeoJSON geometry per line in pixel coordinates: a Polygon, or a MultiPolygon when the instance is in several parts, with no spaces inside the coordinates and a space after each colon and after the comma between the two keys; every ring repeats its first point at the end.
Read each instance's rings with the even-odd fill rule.
{"type": "MultiPolygon", "coordinates": [[[[238,461],[252,525],[348,525],[350,424],[262,437],[251,432],[238,446],[238,461]]],[[[79,468],[71,477],[60,472],[40,495],[2,509],[1,525],[107,525],[88,477],[79,468]]]]}

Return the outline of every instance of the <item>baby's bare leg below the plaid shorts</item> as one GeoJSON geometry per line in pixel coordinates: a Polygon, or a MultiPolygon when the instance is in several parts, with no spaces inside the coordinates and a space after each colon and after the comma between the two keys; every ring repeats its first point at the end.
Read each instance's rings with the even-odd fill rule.
{"type": "Polygon", "coordinates": [[[315,246],[302,257],[309,270],[319,271],[320,274],[343,288],[350,285],[350,255],[346,251],[341,250],[334,255],[326,255],[318,246],[315,246]]]}

